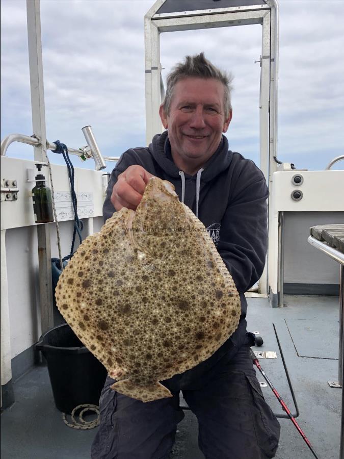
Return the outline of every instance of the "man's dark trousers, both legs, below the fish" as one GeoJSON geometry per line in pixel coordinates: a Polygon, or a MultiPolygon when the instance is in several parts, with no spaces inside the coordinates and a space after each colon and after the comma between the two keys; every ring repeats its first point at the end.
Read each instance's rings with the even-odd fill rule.
{"type": "Polygon", "coordinates": [[[199,447],[206,459],[274,457],[280,425],[263,398],[250,345],[247,336],[197,380],[177,376],[164,381],[172,398],[143,403],[110,389],[114,380],[108,377],[92,459],[167,459],[184,417],[179,390],[198,419],[199,447]]]}

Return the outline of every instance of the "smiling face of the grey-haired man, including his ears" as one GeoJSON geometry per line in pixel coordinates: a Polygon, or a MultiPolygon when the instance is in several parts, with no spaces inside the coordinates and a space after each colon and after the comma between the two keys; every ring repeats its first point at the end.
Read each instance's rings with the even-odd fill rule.
{"type": "Polygon", "coordinates": [[[177,166],[188,171],[215,153],[232,117],[225,118],[223,99],[224,86],[215,79],[186,78],[175,85],[170,113],[161,107],[160,116],[177,166]]]}

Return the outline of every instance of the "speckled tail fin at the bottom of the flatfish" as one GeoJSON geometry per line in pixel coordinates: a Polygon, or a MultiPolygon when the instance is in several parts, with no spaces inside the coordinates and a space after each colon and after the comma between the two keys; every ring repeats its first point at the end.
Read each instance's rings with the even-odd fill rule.
{"type": "Polygon", "coordinates": [[[136,398],[143,402],[172,397],[171,392],[160,384],[160,382],[153,382],[153,384],[147,386],[139,386],[131,382],[130,379],[123,379],[115,382],[115,384],[111,386],[111,389],[127,397],[136,398]]]}

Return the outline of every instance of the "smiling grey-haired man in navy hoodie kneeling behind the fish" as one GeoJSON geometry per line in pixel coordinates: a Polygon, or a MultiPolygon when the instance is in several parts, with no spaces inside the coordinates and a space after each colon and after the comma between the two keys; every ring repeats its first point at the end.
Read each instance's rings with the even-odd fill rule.
{"type": "Polygon", "coordinates": [[[148,148],[127,150],[111,175],[103,216],[136,209],[151,176],[168,180],[207,227],[242,303],[239,327],[209,359],[162,383],[173,394],[143,403],[110,389],[100,398],[93,459],[165,459],[183,418],[179,391],[197,416],[207,459],[274,457],[280,426],[264,401],[249,356],[244,296],[264,267],[268,189],[262,172],[228,151],[230,79],[203,53],[169,74],[160,116],[166,129],[148,148]]]}

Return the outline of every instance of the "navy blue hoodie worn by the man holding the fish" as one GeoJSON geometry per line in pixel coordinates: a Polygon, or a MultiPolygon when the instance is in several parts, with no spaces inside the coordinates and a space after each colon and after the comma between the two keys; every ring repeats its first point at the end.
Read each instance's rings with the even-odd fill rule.
{"type": "Polygon", "coordinates": [[[244,342],[247,312],[244,293],[258,281],[264,268],[269,195],[264,175],[253,161],[228,151],[225,136],[196,175],[184,174],[173,163],[165,131],[155,135],[148,148],[131,148],[123,153],[111,174],[103,206],[104,221],[115,211],[110,197],[118,175],[134,164],[174,185],[179,199],[207,228],[239,291],[240,324],[216,355],[208,359],[217,361],[230,345],[240,347],[244,342]]]}

